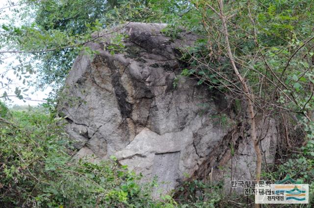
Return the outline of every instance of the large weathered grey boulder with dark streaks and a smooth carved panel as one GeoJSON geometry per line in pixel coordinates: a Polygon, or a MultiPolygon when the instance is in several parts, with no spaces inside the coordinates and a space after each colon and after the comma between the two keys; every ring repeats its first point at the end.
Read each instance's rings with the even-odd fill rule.
{"type": "MultiPolygon", "coordinates": [[[[217,116],[229,109],[223,95],[197,85],[192,78],[181,77],[173,85],[184,67],[179,48],[191,46],[197,36],[182,32],[180,39],[173,40],[161,33],[165,26],[129,23],[117,27],[115,33],[104,32],[102,38],[87,44],[97,55],[78,56],[66,80],[65,98],[59,101],[77,155],[94,154],[97,160],[114,155],[121,164],[141,172],[143,181],[156,175],[159,182],[166,182],[159,186],[164,192],[186,174],[201,175],[201,170],[203,174],[204,167],[213,167],[221,179],[220,164],[230,171],[238,163],[233,178],[250,179],[255,168],[250,138],[234,139],[238,143],[232,165],[229,143],[220,148],[228,140],[226,135],[235,131],[231,110],[227,124],[222,125],[217,116]],[[105,48],[114,46],[117,34],[124,35],[124,47],[112,54],[105,48]]],[[[262,140],[266,162],[274,158],[276,134],[271,125],[262,140]]]]}

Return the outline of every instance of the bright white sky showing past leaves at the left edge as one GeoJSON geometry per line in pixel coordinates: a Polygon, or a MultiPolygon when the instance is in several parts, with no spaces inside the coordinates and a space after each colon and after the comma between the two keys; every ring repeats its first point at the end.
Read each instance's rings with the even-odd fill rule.
{"type": "MultiPolygon", "coordinates": [[[[11,0],[13,2],[18,2],[18,0],[11,0]]],[[[1,8],[4,8],[4,7],[7,7],[7,0],[0,0],[0,9],[1,8]]],[[[13,16],[13,12],[11,12],[11,8],[6,8],[6,9],[1,9],[1,13],[0,15],[8,15],[8,16],[13,16]]],[[[0,19],[0,26],[3,24],[3,23],[6,23],[7,21],[4,19],[0,19]]],[[[3,49],[3,48],[2,48],[3,49]]],[[[0,48],[1,50],[1,48],[0,48]]],[[[5,103],[9,106],[13,106],[13,105],[31,105],[31,106],[36,106],[40,103],[43,103],[42,101],[38,101],[38,100],[44,100],[44,98],[46,98],[49,94],[49,92],[52,91],[51,88],[47,88],[45,89],[44,91],[40,91],[40,90],[36,90],[35,87],[29,87],[29,86],[26,86],[25,84],[23,84],[23,79],[22,80],[19,80],[19,78],[16,77],[16,75],[14,74],[14,71],[12,69],[10,69],[10,64],[12,65],[16,65],[18,64],[18,61],[16,60],[16,56],[14,53],[12,54],[7,54],[6,55],[7,58],[3,59],[3,57],[1,57],[2,61],[4,63],[0,64],[0,75],[3,74],[5,71],[5,74],[6,76],[5,77],[9,77],[10,79],[13,80],[13,82],[9,85],[9,87],[3,89],[3,88],[0,88],[0,96],[2,96],[2,94],[4,92],[7,92],[7,94],[9,95],[14,95],[14,91],[15,91],[15,88],[16,87],[19,87],[19,88],[27,88],[28,91],[26,92],[27,94],[24,94],[23,96],[24,97],[27,97],[27,100],[20,100],[16,97],[10,97],[11,101],[5,101],[5,103]]],[[[29,74],[28,74],[29,75],[29,74]]],[[[0,77],[0,81],[2,82],[6,82],[6,79],[0,77]]],[[[36,74],[32,74],[30,75],[29,79],[28,80],[35,80],[36,79],[36,74]]],[[[1,87],[1,86],[0,86],[1,87]]],[[[4,101],[3,99],[1,99],[1,101],[4,101]]]]}

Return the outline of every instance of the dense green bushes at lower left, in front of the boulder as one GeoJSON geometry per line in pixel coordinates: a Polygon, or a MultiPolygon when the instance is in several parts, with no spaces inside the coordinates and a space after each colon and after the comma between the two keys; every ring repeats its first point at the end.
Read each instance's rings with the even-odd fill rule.
{"type": "Polygon", "coordinates": [[[0,122],[0,204],[4,208],[174,207],[154,201],[153,184],[115,161],[74,161],[62,126],[40,111],[0,122]]]}

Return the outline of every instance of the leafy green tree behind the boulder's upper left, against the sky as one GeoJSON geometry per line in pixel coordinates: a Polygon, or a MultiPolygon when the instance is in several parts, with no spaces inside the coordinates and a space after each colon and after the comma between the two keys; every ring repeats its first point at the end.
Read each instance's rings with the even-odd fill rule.
{"type": "MultiPolygon", "coordinates": [[[[41,89],[52,86],[57,92],[78,51],[93,40],[93,32],[125,21],[166,22],[181,4],[175,0],[23,0],[12,5],[15,20],[1,25],[0,56],[15,54],[20,63],[11,69],[19,79],[41,89]],[[38,79],[27,82],[28,74],[35,72],[38,79]]],[[[23,98],[23,90],[18,89],[15,96],[23,98]]]]}

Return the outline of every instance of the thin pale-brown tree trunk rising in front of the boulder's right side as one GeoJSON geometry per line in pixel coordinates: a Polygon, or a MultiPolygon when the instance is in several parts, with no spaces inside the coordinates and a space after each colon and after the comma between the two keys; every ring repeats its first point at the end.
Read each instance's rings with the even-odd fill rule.
{"type": "MultiPolygon", "coordinates": [[[[223,27],[223,33],[225,35],[225,42],[226,42],[226,48],[227,48],[227,53],[232,65],[232,68],[234,69],[235,75],[242,84],[242,89],[247,101],[247,111],[249,114],[249,123],[251,125],[251,139],[254,145],[255,153],[256,153],[256,180],[260,181],[261,179],[261,170],[262,170],[262,153],[261,149],[259,146],[259,139],[257,138],[257,133],[256,133],[256,124],[255,124],[255,113],[254,113],[254,106],[252,100],[254,99],[253,94],[250,93],[249,88],[242,77],[242,75],[239,73],[237,67],[235,66],[235,61],[233,54],[231,52],[231,47],[229,43],[229,34],[228,34],[228,28],[227,28],[227,23],[226,23],[226,17],[224,16],[223,13],[223,0],[219,0],[219,8],[220,8],[220,18],[222,22],[222,27],[223,27]]],[[[256,204],[255,208],[260,208],[260,204],[256,204]]]]}

